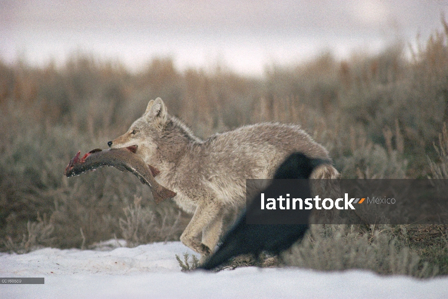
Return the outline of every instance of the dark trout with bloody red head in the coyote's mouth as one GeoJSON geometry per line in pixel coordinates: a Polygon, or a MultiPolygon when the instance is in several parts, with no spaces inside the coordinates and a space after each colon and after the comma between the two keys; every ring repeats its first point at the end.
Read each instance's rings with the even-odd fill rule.
{"type": "Polygon", "coordinates": [[[155,202],[160,202],[164,199],[174,197],[175,192],[166,189],[154,179],[154,176],[159,171],[147,165],[142,158],[135,152],[136,146],[131,146],[123,149],[93,149],[86,153],[82,158],[79,158],[81,151],[71,159],[65,168],[64,174],[67,177],[80,175],[89,170],[93,171],[96,168],[104,166],[113,166],[121,171],[129,171],[136,175],[140,181],[147,184],[152,191],[152,197],[155,202]]]}

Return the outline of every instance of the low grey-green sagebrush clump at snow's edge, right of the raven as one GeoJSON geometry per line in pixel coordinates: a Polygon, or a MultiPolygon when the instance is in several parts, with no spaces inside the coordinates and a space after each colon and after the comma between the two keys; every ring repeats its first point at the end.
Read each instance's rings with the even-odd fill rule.
{"type": "Polygon", "coordinates": [[[316,270],[368,269],[378,274],[433,277],[439,266],[423,261],[405,246],[406,230],[382,225],[313,225],[303,242],[283,254],[287,265],[316,270]]]}

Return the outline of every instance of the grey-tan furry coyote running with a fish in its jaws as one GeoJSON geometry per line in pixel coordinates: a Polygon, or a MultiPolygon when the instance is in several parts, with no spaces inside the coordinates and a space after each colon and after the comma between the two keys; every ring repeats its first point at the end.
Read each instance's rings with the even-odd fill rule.
{"type": "MultiPolygon", "coordinates": [[[[200,140],[168,115],[160,98],[149,101],[144,115],[108,146],[137,146],[136,153],[160,171],[156,181],[176,192],[177,205],[193,213],[180,241],[201,260],[215,249],[224,214],[245,204],[247,178],[272,178],[293,152],[329,159],[328,151],[297,125],[249,125],[200,140]]],[[[323,164],[311,177],[337,175],[333,166],[323,164]]]]}

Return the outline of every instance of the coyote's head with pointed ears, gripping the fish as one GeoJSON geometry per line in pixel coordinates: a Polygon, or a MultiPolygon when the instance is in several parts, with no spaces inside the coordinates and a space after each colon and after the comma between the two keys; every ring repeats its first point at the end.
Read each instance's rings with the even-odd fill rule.
{"type": "Polygon", "coordinates": [[[107,144],[113,149],[137,146],[136,153],[145,160],[151,160],[167,121],[168,114],[163,101],[160,98],[151,100],[143,116],[131,125],[128,132],[107,144]]]}

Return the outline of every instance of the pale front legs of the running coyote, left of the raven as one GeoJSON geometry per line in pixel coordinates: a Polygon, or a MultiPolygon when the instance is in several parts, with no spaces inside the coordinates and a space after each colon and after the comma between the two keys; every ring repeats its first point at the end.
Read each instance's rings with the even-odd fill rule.
{"type": "Polygon", "coordinates": [[[192,250],[200,253],[201,256],[209,255],[218,242],[219,233],[222,227],[222,207],[215,201],[207,204],[199,204],[194,212],[193,218],[188,223],[185,231],[180,236],[180,241],[192,250]],[[221,223],[218,224],[217,222],[221,223]],[[210,230],[208,231],[207,228],[210,230]],[[201,242],[201,235],[206,244],[201,242]],[[218,234],[216,236],[216,234],[218,234]]]}

